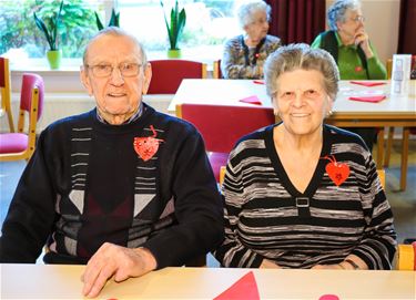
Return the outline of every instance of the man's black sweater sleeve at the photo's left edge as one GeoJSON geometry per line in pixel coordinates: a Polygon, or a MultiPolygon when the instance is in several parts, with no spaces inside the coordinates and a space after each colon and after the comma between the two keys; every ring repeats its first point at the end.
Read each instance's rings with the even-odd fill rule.
{"type": "Polygon", "coordinates": [[[42,133],[20,178],[1,229],[0,262],[35,262],[52,231],[54,195],[42,133]]]}

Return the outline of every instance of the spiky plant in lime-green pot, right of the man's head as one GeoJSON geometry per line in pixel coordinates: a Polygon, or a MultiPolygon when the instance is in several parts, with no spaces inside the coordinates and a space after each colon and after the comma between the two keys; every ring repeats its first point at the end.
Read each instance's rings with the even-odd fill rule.
{"type": "MultiPolygon", "coordinates": [[[[163,7],[163,1],[160,1],[161,7],[163,7]]],[[[186,12],[185,9],[179,10],[177,0],[175,1],[174,8],[171,9],[171,19],[168,21],[166,14],[163,12],[164,22],[166,24],[170,48],[168,50],[169,58],[180,58],[181,50],[177,46],[179,40],[181,39],[183,28],[186,23],[186,12]]]]}

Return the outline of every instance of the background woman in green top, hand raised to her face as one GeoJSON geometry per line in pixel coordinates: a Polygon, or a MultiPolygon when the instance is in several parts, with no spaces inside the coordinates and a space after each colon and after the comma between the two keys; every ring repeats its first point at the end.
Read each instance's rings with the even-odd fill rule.
{"type": "MultiPolygon", "coordinates": [[[[336,0],[327,11],[328,31],[316,37],[312,48],[322,48],[335,59],[342,80],[385,80],[386,69],[369,43],[364,15],[356,0],[336,0]]],[[[376,130],[346,128],[355,132],[373,149],[376,130]]]]}

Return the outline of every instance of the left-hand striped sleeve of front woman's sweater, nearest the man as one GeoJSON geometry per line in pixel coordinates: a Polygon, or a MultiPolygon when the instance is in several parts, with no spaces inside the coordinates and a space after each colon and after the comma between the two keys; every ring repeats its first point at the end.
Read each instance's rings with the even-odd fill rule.
{"type": "MultiPolygon", "coordinates": [[[[233,153],[230,157],[232,156],[233,153]]],[[[225,239],[215,250],[214,256],[223,267],[258,268],[263,261],[263,257],[246,247],[241,241],[241,235],[239,232],[239,218],[245,197],[243,186],[242,166],[233,166],[230,159],[224,178],[225,239]]]]}

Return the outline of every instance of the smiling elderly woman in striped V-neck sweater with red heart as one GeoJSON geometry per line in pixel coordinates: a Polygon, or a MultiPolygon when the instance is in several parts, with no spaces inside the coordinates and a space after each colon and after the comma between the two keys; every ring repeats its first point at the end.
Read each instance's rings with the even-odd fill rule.
{"type": "Polygon", "coordinates": [[[325,51],[291,44],[264,65],[282,122],[243,137],[224,180],[225,267],[390,269],[396,234],[372,154],[325,125],[338,70],[325,51]]]}

